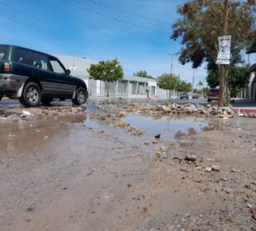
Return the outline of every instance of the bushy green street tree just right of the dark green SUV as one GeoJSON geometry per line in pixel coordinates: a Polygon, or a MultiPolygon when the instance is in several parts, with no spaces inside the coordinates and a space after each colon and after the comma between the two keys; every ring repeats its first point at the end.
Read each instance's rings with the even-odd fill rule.
{"type": "Polygon", "coordinates": [[[93,79],[105,82],[107,97],[109,97],[109,82],[124,77],[123,69],[117,59],[100,61],[98,64],[92,64],[87,70],[93,79]]]}

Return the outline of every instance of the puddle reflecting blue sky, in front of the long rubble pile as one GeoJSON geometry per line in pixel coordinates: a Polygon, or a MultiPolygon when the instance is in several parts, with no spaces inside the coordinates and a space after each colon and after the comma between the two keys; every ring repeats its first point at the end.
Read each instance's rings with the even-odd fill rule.
{"type": "Polygon", "coordinates": [[[219,130],[219,123],[210,122],[203,118],[175,118],[162,117],[154,118],[151,116],[129,114],[125,118],[110,118],[88,114],[84,125],[94,130],[109,130],[109,127],[116,125],[116,129],[121,130],[121,125],[130,125],[136,130],[145,134],[161,134],[162,139],[180,139],[183,136],[193,135],[210,130],[219,130]],[[120,125],[120,126],[118,126],[120,125]]]}

